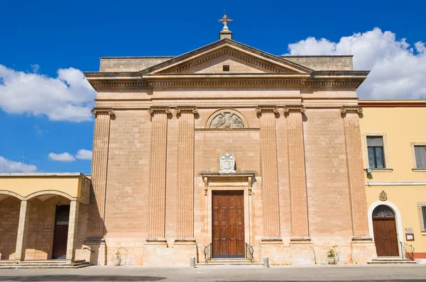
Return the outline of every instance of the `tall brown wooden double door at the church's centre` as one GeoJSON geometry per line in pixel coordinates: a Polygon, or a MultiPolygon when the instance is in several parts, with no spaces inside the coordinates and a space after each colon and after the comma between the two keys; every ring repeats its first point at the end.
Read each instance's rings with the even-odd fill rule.
{"type": "Polygon", "coordinates": [[[212,209],[213,258],[244,257],[244,191],[213,191],[212,209]]]}

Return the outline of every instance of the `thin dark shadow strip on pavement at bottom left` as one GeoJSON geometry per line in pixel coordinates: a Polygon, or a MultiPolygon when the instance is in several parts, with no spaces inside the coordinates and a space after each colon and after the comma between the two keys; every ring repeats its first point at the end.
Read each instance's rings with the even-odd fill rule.
{"type": "Polygon", "coordinates": [[[156,276],[85,276],[85,275],[40,275],[0,276],[0,281],[160,281],[156,276]]]}

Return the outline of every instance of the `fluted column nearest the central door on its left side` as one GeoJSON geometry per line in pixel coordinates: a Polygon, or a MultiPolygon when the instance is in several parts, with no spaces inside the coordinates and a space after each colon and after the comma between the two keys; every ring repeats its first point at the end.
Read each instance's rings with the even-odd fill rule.
{"type": "Polygon", "coordinates": [[[179,118],[177,240],[194,241],[194,115],[198,109],[175,111],[179,118]]]}

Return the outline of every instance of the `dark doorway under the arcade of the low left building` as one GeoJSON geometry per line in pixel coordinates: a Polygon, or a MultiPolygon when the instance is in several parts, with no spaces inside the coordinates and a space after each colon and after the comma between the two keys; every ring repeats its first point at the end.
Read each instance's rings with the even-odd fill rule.
{"type": "Polygon", "coordinates": [[[69,222],[70,205],[57,205],[55,215],[55,230],[53,231],[52,259],[66,258],[69,222]]]}

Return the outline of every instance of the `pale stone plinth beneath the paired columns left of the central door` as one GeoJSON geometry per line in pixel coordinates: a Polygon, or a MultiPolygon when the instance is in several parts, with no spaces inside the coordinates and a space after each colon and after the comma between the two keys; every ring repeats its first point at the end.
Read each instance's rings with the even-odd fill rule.
{"type": "Polygon", "coordinates": [[[176,240],[173,247],[167,242],[146,242],[143,248],[144,266],[189,266],[191,256],[197,257],[195,240],[176,240]]]}

